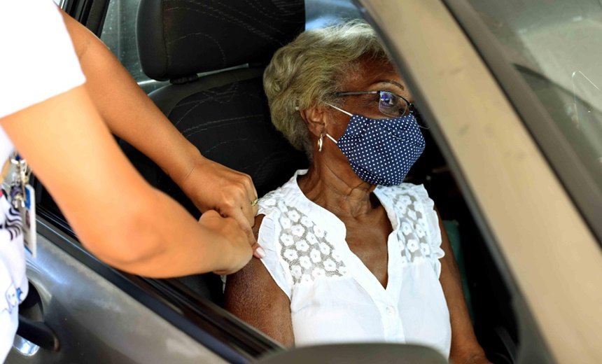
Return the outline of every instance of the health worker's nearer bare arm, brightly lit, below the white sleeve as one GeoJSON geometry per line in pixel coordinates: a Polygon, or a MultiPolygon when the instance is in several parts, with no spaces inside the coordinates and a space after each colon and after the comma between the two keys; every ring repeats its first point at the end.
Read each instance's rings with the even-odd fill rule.
{"type": "Polygon", "coordinates": [[[144,276],[232,273],[251,258],[232,218],[200,221],[142,179],[120,151],[84,86],[0,118],[82,244],[144,276]]]}

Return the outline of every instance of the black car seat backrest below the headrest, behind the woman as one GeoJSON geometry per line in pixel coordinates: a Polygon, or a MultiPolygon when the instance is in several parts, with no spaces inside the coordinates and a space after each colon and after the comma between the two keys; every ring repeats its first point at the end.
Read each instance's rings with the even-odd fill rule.
{"type": "MultiPolygon", "coordinates": [[[[262,69],[237,69],[202,77],[195,83],[168,85],[151,93],[161,109],[169,106],[169,110],[164,110],[169,120],[202,155],[251,176],[259,196],[287,181],[295,169],[307,165],[304,154],[295,151],[272,126],[261,73],[262,69]],[[228,82],[223,83],[224,80],[228,82]],[[211,81],[212,87],[207,88],[204,81],[211,81]],[[189,89],[194,92],[187,92],[189,89]]],[[[125,142],[122,146],[147,181],[174,197],[195,217],[200,216],[194,204],[154,162],[125,142]]]]}

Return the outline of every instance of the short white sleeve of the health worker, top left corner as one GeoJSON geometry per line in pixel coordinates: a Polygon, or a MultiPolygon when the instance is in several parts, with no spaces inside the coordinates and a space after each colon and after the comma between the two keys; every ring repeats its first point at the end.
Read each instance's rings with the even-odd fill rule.
{"type": "Polygon", "coordinates": [[[2,1],[0,52],[0,118],[85,82],[52,0],[2,1]]]}

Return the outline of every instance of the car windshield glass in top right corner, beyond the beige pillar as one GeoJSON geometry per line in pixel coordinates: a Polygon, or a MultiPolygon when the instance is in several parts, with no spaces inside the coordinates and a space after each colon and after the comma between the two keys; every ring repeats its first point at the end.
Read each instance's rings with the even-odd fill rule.
{"type": "Polygon", "coordinates": [[[602,5],[470,0],[602,190],[602,5]]]}

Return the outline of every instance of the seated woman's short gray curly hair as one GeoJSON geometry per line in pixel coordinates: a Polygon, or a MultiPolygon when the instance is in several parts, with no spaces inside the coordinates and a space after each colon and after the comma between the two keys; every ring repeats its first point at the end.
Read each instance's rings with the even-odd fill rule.
{"type": "Polygon", "coordinates": [[[346,75],[368,59],[391,62],[372,27],[360,20],[304,31],[274,53],[263,74],[272,123],[310,160],[311,140],[299,110],[339,104],[335,93],[346,75]]]}

